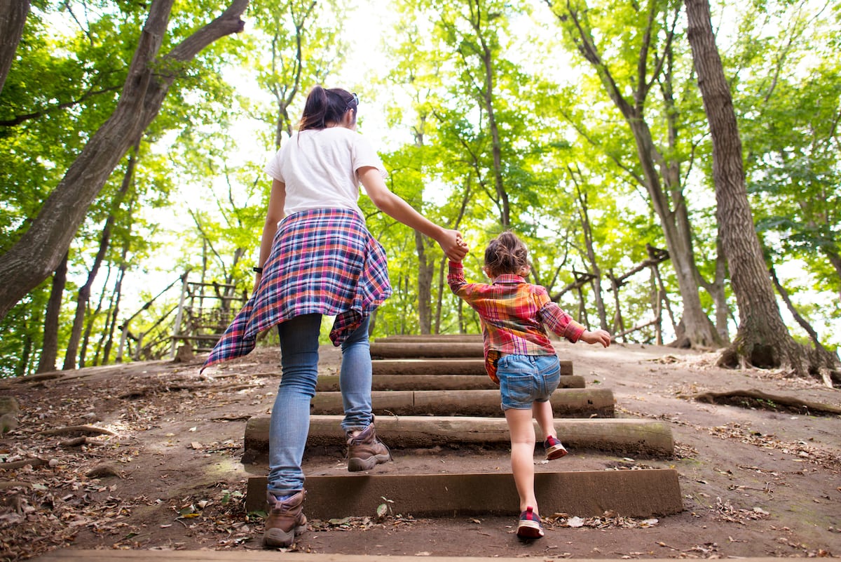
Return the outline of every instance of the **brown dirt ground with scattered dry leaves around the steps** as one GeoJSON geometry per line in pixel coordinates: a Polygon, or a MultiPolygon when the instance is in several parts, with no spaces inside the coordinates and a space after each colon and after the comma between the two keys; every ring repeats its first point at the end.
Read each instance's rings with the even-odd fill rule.
{"type": "MultiPolygon", "coordinates": [[[[588,387],[613,390],[616,416],[669,422],[675,454],[572,450],[551,466],[536,455],[537,469],[673,467],[683,512],[645,520],[543,513],[546,537],[521,543],[516,518],[419,518],[395,507],[379,520],[372,513],[312,521],[294,549],[552,559],[841,556],[841,416],[773,400],[693,399],[752,389],[838,407],[841,391],[779,372],[717,368],[711,353],[631,344],[558,349],[588,387]]],[[[0,400],[13,396],[20,405],[19,426],[0,437],[0,560],[60,548],[261,549],[262,518],[244,507],[255,469],[240,459],[246,419],[272,406],[278,351],[258,348],[204,376],[201,360],[0,381],[0,400]]],[[[339,361],[335,349],[322,347],[322,373],[336,373],[339,361]]],[[[399,471],[401,457],[418,452],[393,453],[394,463],[378,472],[399,471]]],[[[428,458],[447,472],[510,470],[505,450],[442,448],[428,458]]],[[[341,474],[346,462],[340,450],[320,450],[308,454],[304,469],[341,474]]]]}

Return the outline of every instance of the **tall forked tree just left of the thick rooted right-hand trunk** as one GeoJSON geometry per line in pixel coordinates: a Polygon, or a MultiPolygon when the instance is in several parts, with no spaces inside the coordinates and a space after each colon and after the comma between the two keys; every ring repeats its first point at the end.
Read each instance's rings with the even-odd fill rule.
{"type": "Polygon", "coordinates": [[[692,346],[720,345],[722,341],[701,305],[699,294],[700,274],[692,245],[688,202],[681,186],[680,151],[676,146],[678,112],[668,107],[670,87],[662,87],[670,78],[669,64],[679,8],[671,0],[603,7],[606,9],[601,13],[627,18],[621,24],[613,23],[621,25],[613,29],[621,33],[621,38],[616,39],[620,43],[618,50],[621,56],[627,58],[611,65],[602,51],[616,49],[607,46],[610,42],[608,38],[603,41],[605,45],[600,47],[597,44],[597,37],[605,36],[609,22],[601,22],[601,27],[596,29],[591,21],[595,16],[591,15],[585,0],[546,2],[575,48],[598,73],[606,93],[632,131],[642,169],[641,174],[633,173],[648,191],[649,201],[663,227],[683,300],[685,341],[692,346]],[[627,25],[632,26],[631,32],[627,32],[627,25]],[[662,148],[654,140],[646,115],[649,94],[655,87],[660,87],[667,106],[667,144],[662,148]]]}

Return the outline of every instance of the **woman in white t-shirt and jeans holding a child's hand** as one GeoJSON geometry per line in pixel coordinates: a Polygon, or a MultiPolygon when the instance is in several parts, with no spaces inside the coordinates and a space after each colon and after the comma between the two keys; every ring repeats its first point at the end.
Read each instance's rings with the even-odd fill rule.
{"type": "Polygon", "coordinates": [[[378,209],[438,242],[450,259],[467,252],[458,231],[431,223],[386,187],[383,162],[357,134],[355,93],[314,87],[299,130],[266,167],[272,176],[254,294],[204,363],[240,357],[278,326],[283,377],[269,428],[269,516],[263,541],[285,547],[306,525],[301,462],[315,395],[321,315],[336,315],[347,468],[373,469],[389,449],[374,432],[368,316],[391,294],[383,247],[365,226],[359,183],[378,209]]]}

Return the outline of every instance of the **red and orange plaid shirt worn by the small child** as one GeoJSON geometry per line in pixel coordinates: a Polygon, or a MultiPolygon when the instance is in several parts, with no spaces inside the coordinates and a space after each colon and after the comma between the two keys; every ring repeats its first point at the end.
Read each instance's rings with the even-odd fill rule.
{"type": "Polygon", "coordinates": [[[549,299],[545,288],[519,275],[500,275],[493,284],[468,283],[462,263],[450,262],[447,284],[482,319],[484,367],[496,384],[496,363],[502,355],[556,354],[543,326],[570,342],[578,342],[584,333],[584,326],[549,299]]]}

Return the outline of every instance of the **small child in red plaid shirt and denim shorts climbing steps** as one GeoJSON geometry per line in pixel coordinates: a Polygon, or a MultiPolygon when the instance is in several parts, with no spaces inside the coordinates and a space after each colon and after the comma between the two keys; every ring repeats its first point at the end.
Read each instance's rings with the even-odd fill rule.
{"type": "Polygon", "coordinates": [[[485,367],[500,385],[502,410],[511,436],[511,472],[520,496],[517,536],[541,538],[543,528],[534,494],[535,432],[543,435],[547,459],[567,453],[558,441],[549,397],[560,382],[560,364],[545,328],[570,342],[611,344],[604,330],[589,331],[549,300],[547,290],[526,283],[531,270],[526,246],[505,231],[484,252],[484,273],[492,284],[464,280],[461,260],[451,260],[447,283],[452,292],[479,313],[484,336],[485,367]]]}

